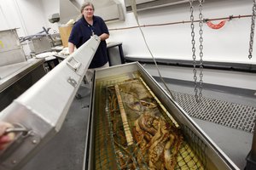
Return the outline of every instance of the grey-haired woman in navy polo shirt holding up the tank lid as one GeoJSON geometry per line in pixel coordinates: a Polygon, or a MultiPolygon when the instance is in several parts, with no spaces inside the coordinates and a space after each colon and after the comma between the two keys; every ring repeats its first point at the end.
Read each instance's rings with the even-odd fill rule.
{"type": "Polygon", "coordinates": [[[101,38],[101,43],[85,75],[88,82],[91,82],[94,69],[109,66],[107,43],[105,41],[109,37],[108,27],[101,17],[94,15],[94,10],[95,8],[92,3],[83,3],[80,9],[82,17],[73,26],[73,30],[68,39],[69,54],[72,54],[74,48],[79,48],[84,42],[88,41],[91,36],[96,34],[101,38]]]}

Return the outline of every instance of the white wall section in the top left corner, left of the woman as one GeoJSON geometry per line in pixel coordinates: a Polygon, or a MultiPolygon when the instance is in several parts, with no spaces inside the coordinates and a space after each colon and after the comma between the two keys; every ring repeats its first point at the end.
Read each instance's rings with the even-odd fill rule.
{"type": "MultiPolygon", "coordinates": [[[[39,0],[0,0],[5,23],[1,29],[20,28],[20,37],[43,31],[46,25],[42,3],[39,0]]],[[[0,13],[1,14],[1,13],[0,13]]]]}

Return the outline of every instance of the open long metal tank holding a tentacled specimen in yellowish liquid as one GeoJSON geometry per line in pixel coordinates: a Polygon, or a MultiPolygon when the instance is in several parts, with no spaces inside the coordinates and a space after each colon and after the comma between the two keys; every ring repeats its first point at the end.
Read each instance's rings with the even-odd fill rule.
{"type": "Polygon", "coordinates": [[[84,169],[239,169],[139,63],[94,78],[84,169]]]}

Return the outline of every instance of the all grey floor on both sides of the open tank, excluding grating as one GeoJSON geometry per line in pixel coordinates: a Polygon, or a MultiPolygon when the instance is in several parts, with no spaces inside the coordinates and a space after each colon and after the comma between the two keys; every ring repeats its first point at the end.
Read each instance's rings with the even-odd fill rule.
{"type": "MultiPolygon", "coordinates": [[[[162,83],[159,83],[162,86],[162,83]]],[[[176,92],[192,95],[194,92],[193,87],[172,83],[172,81],[168,82],[167,86],[176,92]]],[[[90,90],[80,87],[79,94],[81,94],[82,98],[73,100],[73,104],[61,127],[60,133],[46,144],[43,150],[34,156],[21,170],[83,169],[90,90]]],[[[212,91],[210,89],[204,89],[203,96],[205,98],[220,99],[240,105],[256,105],[255,97],[229,94],[221,90],[212,91]]],[[[246,166],[246,156],[251,149],[253,133],[197,118],[193,118],[193,120],[235,162],[237,167],[243,169],[246,166]]]]}

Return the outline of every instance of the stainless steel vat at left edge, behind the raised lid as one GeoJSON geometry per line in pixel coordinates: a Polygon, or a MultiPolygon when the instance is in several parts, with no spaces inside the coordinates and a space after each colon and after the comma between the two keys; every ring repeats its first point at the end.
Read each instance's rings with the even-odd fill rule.
{"type": "Polygon", "coordinates": [[[0,111],[44,77],[44,59],[29,59],[0,67],[0,111]]]}

